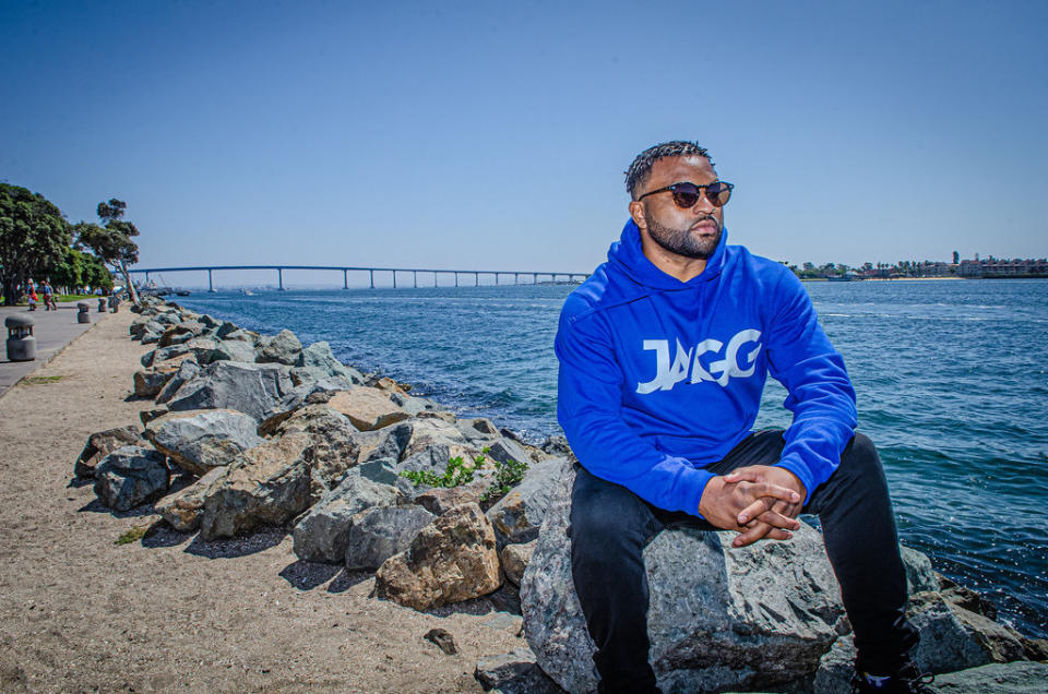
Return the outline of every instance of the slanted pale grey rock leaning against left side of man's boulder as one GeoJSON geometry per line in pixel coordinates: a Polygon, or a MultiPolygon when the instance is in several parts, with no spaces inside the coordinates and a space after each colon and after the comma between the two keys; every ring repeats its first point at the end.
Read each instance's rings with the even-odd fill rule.
{"type": "Polygon", "coordinates": [[[524,479],[488,510],[499,547],[531,542],[538,537],[550,492],[564,464],[565,458],[549,458],[532,465],[524,479]]]}

